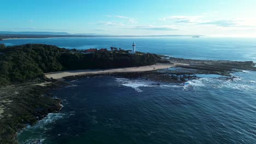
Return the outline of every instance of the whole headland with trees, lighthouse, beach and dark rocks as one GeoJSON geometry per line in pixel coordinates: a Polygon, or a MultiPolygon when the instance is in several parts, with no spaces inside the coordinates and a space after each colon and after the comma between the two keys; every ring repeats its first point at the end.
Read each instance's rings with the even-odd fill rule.
{"type": "Polygon", "coordinates": [[[256,71],[255,63],[182,59],[110,47],[107,49],[64,49],[53,45],[0,45],[0,143],[18,143],[16,134],[48,113],[61,110],[61,99],[51,89],[69,85],[82,77],[113,75],[130,79],[185,83],[199,79],[195,74],[230,74],[256,71]],[[179,68],[166,70],[168,68],[179,68]]]}

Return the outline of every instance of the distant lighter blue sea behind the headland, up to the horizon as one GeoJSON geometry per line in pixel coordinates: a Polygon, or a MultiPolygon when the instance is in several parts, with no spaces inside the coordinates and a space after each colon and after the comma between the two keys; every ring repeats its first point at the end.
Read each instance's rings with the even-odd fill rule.
{"type": "Polygon", "coordinates": [[[255,38],[188,38],[188,37],[121,37],[121,38],[50,38],[10,39],[6,45],[49,44],[68,49],[107,48],[110,46],[152,52],[179,58],[254,61],[256,62],[255,38]]]}

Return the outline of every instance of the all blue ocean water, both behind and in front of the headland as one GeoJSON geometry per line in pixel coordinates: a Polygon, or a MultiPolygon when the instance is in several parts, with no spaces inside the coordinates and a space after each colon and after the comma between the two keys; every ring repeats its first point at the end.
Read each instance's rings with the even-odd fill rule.
{"type": "MultiPolygon", "coordinates": [[[[68,49],[110,46],[161,55],[256,62],[246,38],[53,38],[4,40],[6,45],[51,44],[68,49]]],[[[170,69],[171,70],[171,69],[170,69]]],[[[114,76],[86,77],[55,89],[63,100],[18,134],[20,143],[256,143],[256,72],[198,75],[188,85],[114,76]]]]}

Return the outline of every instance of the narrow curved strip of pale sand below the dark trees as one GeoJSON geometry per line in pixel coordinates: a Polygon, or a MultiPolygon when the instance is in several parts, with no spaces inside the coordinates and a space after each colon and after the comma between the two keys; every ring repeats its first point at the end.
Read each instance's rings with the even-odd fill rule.
{"type": "Polygon", "coordinates": [[[46,73],[45,76],[48,78],[60,80],[66,76],[152,71],[157,69],[166,69],[170,67],[174,67],[174,64],[154,64],[154,65],[148,65],[144,67],[117,68],[117,69],[69,70],[69,71],[59,71],[54,73],[46,73]]]}

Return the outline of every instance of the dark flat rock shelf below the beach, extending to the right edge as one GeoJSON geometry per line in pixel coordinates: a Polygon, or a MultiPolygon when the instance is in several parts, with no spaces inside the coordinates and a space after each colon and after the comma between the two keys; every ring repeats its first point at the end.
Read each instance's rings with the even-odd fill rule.
{"type": "Polygon", "coordinates": [[[135,71],[127,73],[104,73],[104,74],[88,74],[88,75],[73,75],[63,77],[64,80],[77,80],[83,77],[112,75],[125,77],[130,79],[150,79],[155,82],[170,82],[184,83],[189,80],[199,79],[196,74],[214,74],[225,76],[225,79],[234,79],[232,73],[242,70],[256,71],[255,63],[250,62],[235,62],[235,61],[208,61],[182,59],[173,57],[164,57],[175,65],[170,69],[160,69],[152,71],[135,71]]]}

